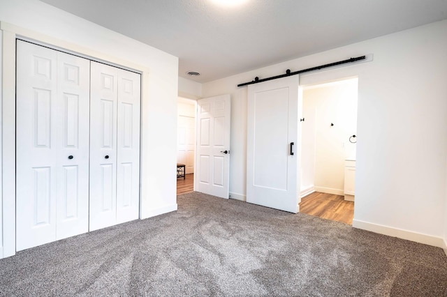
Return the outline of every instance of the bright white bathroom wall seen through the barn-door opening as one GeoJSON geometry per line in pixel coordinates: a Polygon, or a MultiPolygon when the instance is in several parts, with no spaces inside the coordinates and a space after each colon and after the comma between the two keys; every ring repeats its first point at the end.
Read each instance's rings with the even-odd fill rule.
{"type": "Polygon", "coordinates": [[[315,135],[307,136],[310,141],[302,136],[301,158],[302,162],[314,158],[315,169],[301,165],[302,190],[309,187],[303,184],[311,179],[307,174],[314,174],[317,192],[344,195],[344,160],[356,158],[356,144],[349,142],[349,137],[357,134],[357,86],[358,79],[348,79],[304,88],[305,121],[300,124],[302,130],[314,127],[315,135]],[[314,146],[314,155],[307,146],[314,146]]]}

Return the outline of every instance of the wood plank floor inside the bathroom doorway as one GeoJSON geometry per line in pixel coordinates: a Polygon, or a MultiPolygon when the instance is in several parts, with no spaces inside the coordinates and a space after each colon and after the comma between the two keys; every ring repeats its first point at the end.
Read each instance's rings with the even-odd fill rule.
{"type": "Polygon", "coordinates": [[[313,192],[301,199],[300,213],[352,224],[354,202],[345,201],[343,196],[313,192]]]}

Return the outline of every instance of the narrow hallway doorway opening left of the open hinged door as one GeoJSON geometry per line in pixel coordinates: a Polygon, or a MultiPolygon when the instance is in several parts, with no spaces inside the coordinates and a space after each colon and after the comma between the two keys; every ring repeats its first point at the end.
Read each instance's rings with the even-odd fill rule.
{"type": "Polygon", "coordinates": [[[193,192],[196,155],[196,100],[177,100],[177,195],[193,192]]]}

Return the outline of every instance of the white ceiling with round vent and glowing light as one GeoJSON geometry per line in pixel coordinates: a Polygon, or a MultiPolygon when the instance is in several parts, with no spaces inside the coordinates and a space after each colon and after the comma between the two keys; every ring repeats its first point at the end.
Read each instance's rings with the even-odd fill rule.
{"type": "Polygon", "coordinates": [[[447,0],[41,1],[178,56],[196,82],[447,19],[447,0]]]}

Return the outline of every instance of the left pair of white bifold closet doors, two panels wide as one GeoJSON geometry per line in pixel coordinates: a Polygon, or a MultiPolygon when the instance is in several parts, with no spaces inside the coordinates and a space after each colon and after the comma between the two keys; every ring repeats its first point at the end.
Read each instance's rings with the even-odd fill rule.
{"type": "Polygon", "coordinates": [[[16,250],[88,231],[89,64],[17,40],[16,250]]]}

